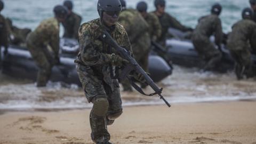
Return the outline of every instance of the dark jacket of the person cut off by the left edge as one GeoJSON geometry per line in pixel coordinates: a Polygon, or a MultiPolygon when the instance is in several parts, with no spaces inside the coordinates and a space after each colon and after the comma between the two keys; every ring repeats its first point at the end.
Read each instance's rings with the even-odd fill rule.
{"type": "Polygon", "coordinates": [[[0,14],[0,47],[8,47],[7,23],[3,15],[0,14]]]}

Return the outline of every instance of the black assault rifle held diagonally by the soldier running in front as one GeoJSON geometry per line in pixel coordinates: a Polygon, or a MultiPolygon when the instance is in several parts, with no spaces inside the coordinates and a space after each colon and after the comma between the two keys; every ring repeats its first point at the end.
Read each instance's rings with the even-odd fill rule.
{"type": "Polygon", "coordinates": [[[129,63],[122,69],[121,75],[118,76],[121,81],[127,77],[134,89],[136,89],[138,92],[140,92],[143,95],[153,96],[155,94],[158,94],[159,98],[162,99],[168,107],[171,107],[171,105],[164,99],[162,93],[163,88],[159,89],[158,86],[153,82],[153,80],[146,74],[146,72],[139,66],[137,61],[135,61],[134,58],[131,57],[131,54],[125,50],[123,47],[119,46],[115,40],[110,36],[110,34],[105,30],[103,31],[103,34],[99,37],[101,41],[105,42],[106,44],[114,47],[114,49],[121,55],[122,58],[129,61],[129,63]],[[136,85],[134,82],[132,82],[131,77],[129,74],[131,74],[133,71],[136,71],[138,74],[141,74],[145,77],[146,83],[155,91],[155,93],[151,94],[145,94],[138,85],[136,85]]]}

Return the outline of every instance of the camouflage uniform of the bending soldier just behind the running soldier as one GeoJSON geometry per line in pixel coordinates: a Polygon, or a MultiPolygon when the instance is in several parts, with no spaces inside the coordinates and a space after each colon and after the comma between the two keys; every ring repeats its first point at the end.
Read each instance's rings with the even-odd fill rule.
{"type": "MultiPolygon", "coordinates": [[[[148,71],[150,52],[149,25],[137,10],[126,9],[119,15],[118,22],[124,26],[129,36],[135,60],[143,70],[148,71]]],[[[130,82],[122,82],[124,90],[132,90],[130,82]]]]}

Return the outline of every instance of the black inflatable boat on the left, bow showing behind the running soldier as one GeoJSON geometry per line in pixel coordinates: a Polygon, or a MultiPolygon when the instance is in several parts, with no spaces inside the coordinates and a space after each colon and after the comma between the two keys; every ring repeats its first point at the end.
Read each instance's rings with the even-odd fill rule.
{"type": "MultiPolygon", "coordinates": [[[[52,68],[51,81],[81,85],[74,63],[77,51],[78,43],[76,41],[67,38],[61,39],[60,65],[52,68]]],[[[1,54],[3,54],[3,50],[1,54]]],[[[2,72],[12,77],[28,78],[35,81],[37,66],[26,48],[11,45],[8,49],[8,54],[3,59],[2,72]]],[[[172,68],[161,57],[150,55],[149,73],[155,82],[159,82],[172,74],[172,68]]]]}

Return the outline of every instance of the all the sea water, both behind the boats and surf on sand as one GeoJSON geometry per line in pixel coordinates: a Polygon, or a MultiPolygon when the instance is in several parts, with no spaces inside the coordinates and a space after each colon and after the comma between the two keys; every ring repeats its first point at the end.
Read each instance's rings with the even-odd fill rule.
{"type": "MultiPolygon", "coordinates": [[[[13,20],[13,25],[35,29],[39,22],[53,16],[58,0],[4,0],[2,14],[13,20]]],[[[81,14],[83,22],[98,18],[97,1],[74,0],[74,11],[81,14]]],[[[127,1],[135,7],[138,0],[127,1]]],[[[153,0],[146,1],[149,11],[154,10],[153,0]]],[[[221,20],[223,30],[230,31],[233,23],[241,19],[241,11],[249,6],[247,0],[172,0],[167,1],[166,11],[186,26],[195,27],[197,19],[210,13],[211,5],[223,6],[221,20]]],[[[61,32],[63,33],[63,31],[61,32]]],[[[255,100],[255,79],[237,81],[234,73],[200,73],[197,68],[174,66],[173,74],[158,83],[163,95],[172,103],[255,100]]],[[[121,87],[122,91],[122,87],[121,87]]],[[[146,89],[149,93],[151,90],[146,89]]],[[[145,97],[138,92],[122,92],[124,106],[165,105],[157,96],[145,97]]],[[[49,82],[45,88],[37,88],[26,79],[14,79],[0,74],[0,110],[42,110],[90,108],[84,92],[77,85],[49,82]]]]}

